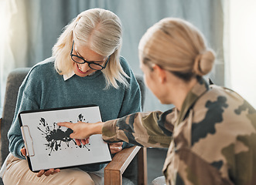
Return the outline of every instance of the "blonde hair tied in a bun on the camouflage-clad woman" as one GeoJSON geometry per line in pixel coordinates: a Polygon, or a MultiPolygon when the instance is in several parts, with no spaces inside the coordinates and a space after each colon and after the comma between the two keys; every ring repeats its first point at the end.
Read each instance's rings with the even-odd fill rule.
{"type": "Polygon", "coordinates": [[[203,34],[180,18],[163,18],[145,32],[138,45],[144,63],[155,63],[186,80],[211,71],[215,54],[203,34]],[[186,77],[189,76],[189,77],[186,77]]]}

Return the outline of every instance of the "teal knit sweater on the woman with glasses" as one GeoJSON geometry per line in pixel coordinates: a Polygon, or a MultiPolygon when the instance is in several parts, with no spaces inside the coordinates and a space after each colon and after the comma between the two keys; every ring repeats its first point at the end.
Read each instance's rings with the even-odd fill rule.
{"type": "MultiPolygon", "coordinates": [[[[46,59],[32,67],[19,88],[15,116],[8,133],[9,150],[12,155],[25,159],[20,150],[24,146],[18,114],[23,110],[49,109],[67,106],[95,104],[101,109],[103,121],[141,111],[141,93],[138,82],[124,58],[121,66],[128,76],[130,86],[122,84],[119,89],[111,86],[104,89],[106,82],[101,71],[92,76],[72,76],[64,81],[54,68],[54,58],[46,59]]],[[[86,165],[83,170],[100,170],[102,165],[86,165]]]]}

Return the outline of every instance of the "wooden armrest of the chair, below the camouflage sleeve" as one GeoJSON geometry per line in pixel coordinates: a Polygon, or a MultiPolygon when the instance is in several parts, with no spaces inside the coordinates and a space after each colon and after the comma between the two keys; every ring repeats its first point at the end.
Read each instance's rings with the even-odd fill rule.
{"type": "MultiPolygon", "coordinates": [[[[132,146],[130,148],[125,148],[121,150],[119,153],[115,154],[111,163],[108,163],[107,167],[104,169],[104,184],[115,185],[122,183],[122,174],[128,167],[131,160],[136,156],[136,154],[142,150],[145,150],[141,146],[132,146]]],[[[140,155],[138,157],[142,157],[145,155],[140,155]]],[[[145,158],[146,159],[146,158],[145,158]]],[[[139,161],[139,159],[138,159],[139,161]]],[[[143,167],[142,167],[143,168],[143,167]]],[[[146,172],[146,169],[144,169],[146,172]]],[[[143,172],[144,172],[143,170],[143,172]]],[[[143,173],[145,174],[145,173],[143,173]]],[[[146,177],[146,175],[145,175],[146,177]]],[[[138,177],[138,180],[145,180],[145,177],[138,177]]],[[[146,184],[146,183],[145,183],[146,184]]]]}

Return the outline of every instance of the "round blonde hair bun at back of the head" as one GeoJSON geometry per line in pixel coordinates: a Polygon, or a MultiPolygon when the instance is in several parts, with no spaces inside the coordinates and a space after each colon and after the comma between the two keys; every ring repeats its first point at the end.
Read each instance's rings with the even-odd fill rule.
{"type": "Polygon", "coordinates": [[[213,68],[214,60],[215,55],[212,50],[207,50],[203,54],[197,55],[193,66],[196,75],[207,75],[213,68]]]}

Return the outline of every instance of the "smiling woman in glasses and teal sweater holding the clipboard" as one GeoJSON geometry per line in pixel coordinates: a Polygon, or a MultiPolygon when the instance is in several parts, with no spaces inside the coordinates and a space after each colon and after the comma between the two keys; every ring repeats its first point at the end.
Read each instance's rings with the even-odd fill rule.
{"type": "MultiPolygon", "coordinates": [[[[53,57],[32,67],[19,89],[8,133],[12,155],[7,159],[5,184],[103,184],[104,165],[99,164],[32,173],[17,115],[23,110],[96,104],[107,121],[141,111],[138,82],[120,49],[121,22],[113,12],[89,9],[66,26],[53,47],[53,57]]],[[[111,145],[111,153],[121,146],[111,145]]]]}

